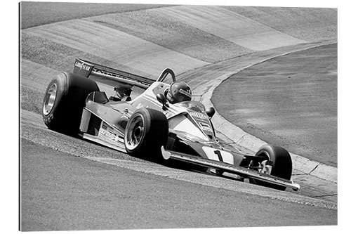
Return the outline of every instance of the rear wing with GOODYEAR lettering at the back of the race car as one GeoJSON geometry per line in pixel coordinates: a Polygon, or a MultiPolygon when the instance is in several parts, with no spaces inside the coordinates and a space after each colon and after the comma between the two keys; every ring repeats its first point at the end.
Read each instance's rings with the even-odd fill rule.
{"type": "Polygon", "coordinates": [[[111,86],[122,83],[147,89],[154,82],[153,79],[138,74],[124,72],[80,58],[76,58],[73,73],[111,86]]]}

